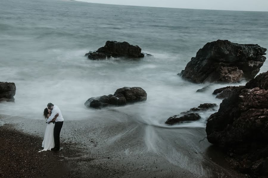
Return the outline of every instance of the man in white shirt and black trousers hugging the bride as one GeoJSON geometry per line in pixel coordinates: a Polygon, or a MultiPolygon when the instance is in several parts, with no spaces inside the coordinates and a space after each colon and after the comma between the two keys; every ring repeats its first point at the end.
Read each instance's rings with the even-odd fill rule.
{"type": "Polygon", "coordinates": [[[47,108],[51,109],[51,115],[47,119],[46,123],[49,123],[57,113],[59,113],[59,116],[55,120],[55,127],[54,127],[54,142],[55,142],[55,147],[52,148],[51,150],[60,150],[60,130],[63,125],[63,117],[60,112],[60,108],[52,103],[47,104],[47,108]]]}

